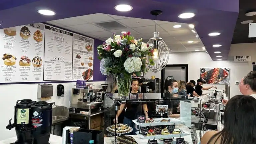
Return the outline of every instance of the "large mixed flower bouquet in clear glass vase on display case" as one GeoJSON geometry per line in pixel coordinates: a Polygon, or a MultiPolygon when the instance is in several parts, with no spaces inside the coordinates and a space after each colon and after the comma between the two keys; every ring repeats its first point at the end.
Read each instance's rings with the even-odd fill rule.
{"type": "Polygon", "coordinates": [[[122,35],[113,34],[113,39],[108,38],[97,47],[100,61],[100,71],[103,75],[115,75],[118,78],[119,96],[129,96],[131,75],[140,76],[148,72],[147,65],[154,65],[153,60],[146,60],[153,56],[149,45],[136,40],[130,32],[122,35]]]}

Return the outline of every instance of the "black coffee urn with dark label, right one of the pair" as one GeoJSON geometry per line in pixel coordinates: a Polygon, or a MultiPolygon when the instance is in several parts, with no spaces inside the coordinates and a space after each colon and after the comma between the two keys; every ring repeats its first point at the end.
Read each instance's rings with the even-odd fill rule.
{"type": "Polygon", "coordinates": [[[52,127],[52,106],[55,103],[36,102],[31,106],[31,131],[33,144],[48,144],[52,127]]]}

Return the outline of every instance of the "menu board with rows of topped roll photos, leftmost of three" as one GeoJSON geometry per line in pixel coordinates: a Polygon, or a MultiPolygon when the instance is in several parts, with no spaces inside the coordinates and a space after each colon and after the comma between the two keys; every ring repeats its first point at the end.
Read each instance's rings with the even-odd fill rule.
{"type": "Polygon", "coordinates": [[[44,24],[0,29],[0,83],[43,80],[44,24]]]}

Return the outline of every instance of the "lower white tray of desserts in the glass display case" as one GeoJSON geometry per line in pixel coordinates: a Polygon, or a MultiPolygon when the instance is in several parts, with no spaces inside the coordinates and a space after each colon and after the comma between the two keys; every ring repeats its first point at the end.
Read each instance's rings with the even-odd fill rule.
{"type": "Polygon", "coordinates": [[[139,131],[137,131],[136,134],[139,135],[140,138],[142,138],[142,139],[160,139],[160,138],[166,139],[166,138],[183,137],[183,136],[190,135],[188,133],[185,133],[184,131],[181,131],[180,134],[169,134],[169,135],[159,134],[159,135],[153,135],[153,136],[144,136],[142,134],[139,134],[139,131]]]}

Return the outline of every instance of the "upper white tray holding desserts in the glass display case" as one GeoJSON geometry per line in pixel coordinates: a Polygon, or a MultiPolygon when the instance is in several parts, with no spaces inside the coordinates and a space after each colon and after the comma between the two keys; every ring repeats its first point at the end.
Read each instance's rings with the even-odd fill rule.
{"type": "Polygon", "coordinates": [[[154,122],[152,122],[152,123],[138,123],[137,119],[133,120],[132,122],[134,122],[136,125],[143,126],[143,127],[146,127],[146,126],[160,126],[160,125],[175,125],[175,124],[184,123],[181,120],[178,120],[176,118],[155,118],[153,120],[154,120],[154,122]],[[170,122],[161,122],[162,119],[169,119],[171,121],[170,122]]]}

